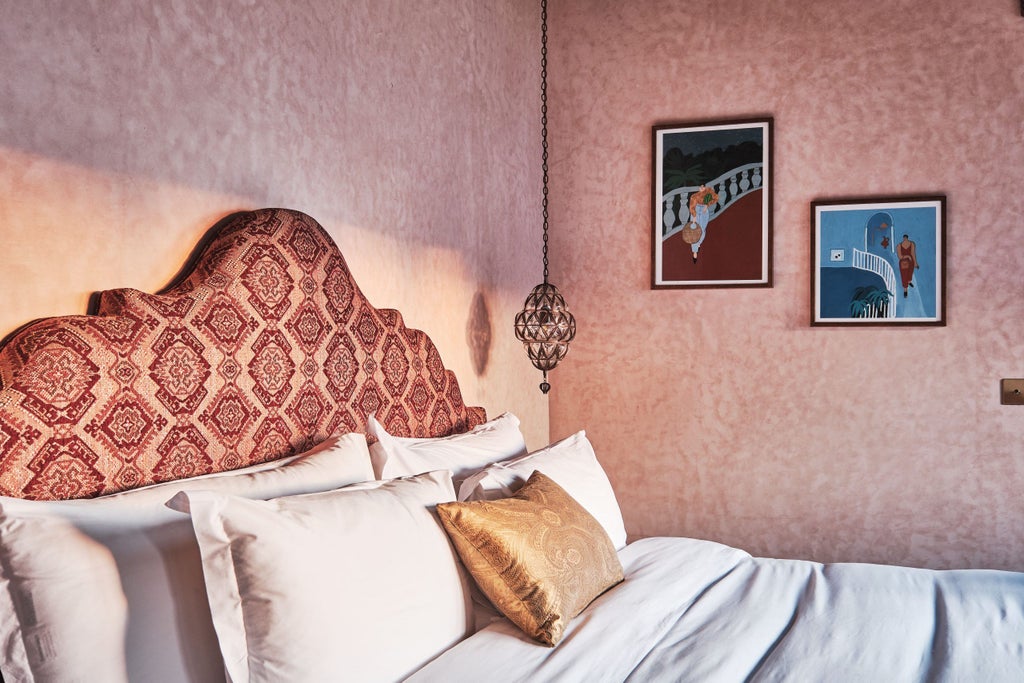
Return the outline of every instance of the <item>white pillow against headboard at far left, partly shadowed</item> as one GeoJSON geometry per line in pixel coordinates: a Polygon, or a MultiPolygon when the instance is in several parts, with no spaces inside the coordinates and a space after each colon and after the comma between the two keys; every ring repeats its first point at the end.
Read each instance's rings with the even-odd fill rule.
{"type": "Polygon", "coordinates": [[[179,490],[271,498],[373,477],[361,434],[279,463],[103,498],[0,498],[0,670],[8,681],[223,680],[179,490]]]}

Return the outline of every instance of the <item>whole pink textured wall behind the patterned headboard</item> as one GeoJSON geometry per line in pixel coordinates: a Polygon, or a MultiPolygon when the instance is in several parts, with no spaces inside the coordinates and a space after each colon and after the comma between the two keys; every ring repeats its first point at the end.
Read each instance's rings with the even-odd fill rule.
{"type": "Polygon", "coordinates": [[[0,10],[0,335],[95,290],[154,291],[224,214],[284,206],[431,335],[467,401],[546,442],[510,333],[540,278],[532,3],[0,10]]]}

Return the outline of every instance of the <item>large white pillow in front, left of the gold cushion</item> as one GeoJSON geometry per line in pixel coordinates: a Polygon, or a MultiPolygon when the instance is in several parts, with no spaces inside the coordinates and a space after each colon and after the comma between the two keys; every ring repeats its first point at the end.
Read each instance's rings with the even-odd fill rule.
{"type": "Polygon", "coordinates": [[[471,632],[469,584],[431,472],[250,501],[187,492],[228,679],[394,681],[471,632]]]}

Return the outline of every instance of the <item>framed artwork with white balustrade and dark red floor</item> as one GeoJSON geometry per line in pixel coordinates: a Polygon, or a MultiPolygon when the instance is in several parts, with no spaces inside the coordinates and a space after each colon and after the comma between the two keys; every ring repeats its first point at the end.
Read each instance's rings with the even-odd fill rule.
{"type": "Polygon", "coordinates": [[[653,128],[651,289],[771,287],[772,119],[653,128]]]}

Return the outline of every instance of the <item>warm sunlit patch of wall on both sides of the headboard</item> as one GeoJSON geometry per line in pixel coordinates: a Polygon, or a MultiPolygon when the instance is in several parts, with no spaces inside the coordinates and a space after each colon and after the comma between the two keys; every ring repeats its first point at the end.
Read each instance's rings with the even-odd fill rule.
{"type": "MultiPolygon", "coordinates": [[[[0,337],[38,317],[83,314],[96,291],[160,290],[217,220],[263,203],[0,148],[0,337]]],[[[475,246],[411,244],[346,224],[327,207],[287,208],[324,225],[375,306],[400,310],[433,339],[468,403],[513,410],[531,445],[547,442],[547,401],[532,400],[531,383],[513,381],[529,367],[511,332],[522,292],[481,282],[475,246]],[[482,373],[467,338],[477,293],[493,326],[482,373]]]]}

